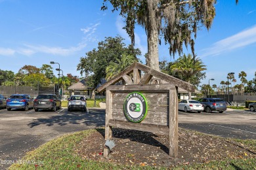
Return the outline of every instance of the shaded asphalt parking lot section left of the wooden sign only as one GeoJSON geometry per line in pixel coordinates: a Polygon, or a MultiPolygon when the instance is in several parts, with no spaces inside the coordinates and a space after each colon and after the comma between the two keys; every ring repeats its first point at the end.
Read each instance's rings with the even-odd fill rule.
{"type": "Polygon", "coordinates": [[[10,165],[3,160],[20,160],[26,152],[66,133],[104,126],[104,109],[87,112],[60,109],[27,112],[19,109],[0,110],[0,169],[10,165]]]}

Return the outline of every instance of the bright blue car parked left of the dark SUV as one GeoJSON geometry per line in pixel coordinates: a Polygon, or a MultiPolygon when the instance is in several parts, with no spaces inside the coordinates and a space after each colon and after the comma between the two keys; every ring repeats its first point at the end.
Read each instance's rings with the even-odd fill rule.
{"type": "Polygon", "coordinates": [[[12,94],[9,99],[7,99],[7,110],[11,109],[24,109],[28,110],[33,108],[33,98],[28,94],[12,94]]]}

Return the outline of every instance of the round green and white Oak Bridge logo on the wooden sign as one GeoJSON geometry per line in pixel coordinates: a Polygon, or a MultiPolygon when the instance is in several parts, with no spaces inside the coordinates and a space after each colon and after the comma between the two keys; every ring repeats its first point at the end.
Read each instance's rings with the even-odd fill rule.
{"type": "Polygon", "coordinates": [[[141,122],[148,112],[148,103],[142,93],[129,93],[123,104],[125,117],[131,122],[141,122]]]}

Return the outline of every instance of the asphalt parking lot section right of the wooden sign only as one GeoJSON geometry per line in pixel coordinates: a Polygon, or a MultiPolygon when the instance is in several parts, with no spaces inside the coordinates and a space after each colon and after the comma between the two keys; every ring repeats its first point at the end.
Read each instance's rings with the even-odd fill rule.
{"type": "Polygon", "coordinates": [[[179,112],[179,127],[236,139],[256,139],[256,112],[226,110],[224,113],[179,112]]]}

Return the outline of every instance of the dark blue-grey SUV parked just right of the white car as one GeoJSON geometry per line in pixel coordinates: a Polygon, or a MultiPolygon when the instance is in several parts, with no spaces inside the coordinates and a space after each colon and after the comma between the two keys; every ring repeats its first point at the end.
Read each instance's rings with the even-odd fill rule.
{"type": "Polygon", "coordinates": [[[202,98],[198,100],[203,105],[205,112],[224,112],[226,110],[226,101],[220,98],[202,98]]]}

